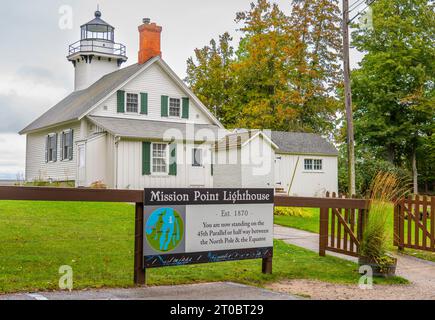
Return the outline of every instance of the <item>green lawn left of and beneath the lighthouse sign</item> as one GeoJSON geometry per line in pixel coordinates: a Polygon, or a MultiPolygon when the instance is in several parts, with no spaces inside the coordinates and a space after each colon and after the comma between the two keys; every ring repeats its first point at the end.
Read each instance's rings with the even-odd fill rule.
{"type": "MultiPolygon", "coordinates": [[[[74,288],[127,287],[133,278],[134,207],[128,204],[0,202],[0,293],[58,288],[70,265],[74,288]]],[[[261,261],[148,270],[150,285],[235,281],[263,286],[279,279],[357,283],[357,265],[275,242],[274,273],[261,261]]],[[[377,283],[404,283],[401,278],[377,283]]]]}

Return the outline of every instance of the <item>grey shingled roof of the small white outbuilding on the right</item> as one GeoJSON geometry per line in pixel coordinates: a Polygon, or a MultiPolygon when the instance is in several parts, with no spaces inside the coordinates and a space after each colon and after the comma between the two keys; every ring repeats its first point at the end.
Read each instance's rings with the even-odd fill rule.
{"type": "Polygon", "coordinates": [[[317,134],[281,131],[272,131],[269,134],[272,141],[278,145],[278,153],[338,156],[334,145],[317,134]]]}

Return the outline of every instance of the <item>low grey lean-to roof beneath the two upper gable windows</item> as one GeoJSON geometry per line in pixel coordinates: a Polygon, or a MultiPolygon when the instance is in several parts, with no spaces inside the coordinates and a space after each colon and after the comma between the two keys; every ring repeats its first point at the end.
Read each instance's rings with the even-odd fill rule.
{"type": "Polygon", "coordinates": [[[222,129],[211,124],[186,124],[181,122],[137,120],[102,116],[88,116],[87,118],[110,134],[122,138],[161,140],[165,137],[166,133],[181,133],[182,137],[180,138],[184,140],[188,138],[186,137],[188,133],[193,133],[194,138],[199,138],[196,137],[196,134],[200,130],[207,129],[210,130],[210,133],[212,134],[212,137],[208,138],[216,137],[212,140],[217,140],[220,139],[219,134],[222,134],[222,129]],[[192,128],[193,130],[190,131],[192,128]]]}

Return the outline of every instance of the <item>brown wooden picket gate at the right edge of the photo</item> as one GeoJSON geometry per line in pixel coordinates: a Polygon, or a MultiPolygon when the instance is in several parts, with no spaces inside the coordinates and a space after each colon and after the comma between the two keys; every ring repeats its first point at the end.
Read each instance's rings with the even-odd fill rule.
{"type": "Polygon", "coordinates": [[[435,252],[435,197],[409,196],[394,207],[394,245],[435,252]]]}

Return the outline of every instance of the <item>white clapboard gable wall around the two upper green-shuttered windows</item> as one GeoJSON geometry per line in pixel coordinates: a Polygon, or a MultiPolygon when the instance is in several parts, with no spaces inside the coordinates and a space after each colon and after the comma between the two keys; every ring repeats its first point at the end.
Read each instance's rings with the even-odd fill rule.
{"type": "MultiPolygon", "coordinates": [[[[108,97],[107,100],[101,103],[92,112],[92,115],[120,117],[128,119],[163,120],[175,122],[186,121],[186,119],[180,118],[161,117],[162,95],[166,95],[172,98],[183,98],[187,97],[187,94],[157,64],[150,66],[144,72],[139,74],[136,78],[132,79],[122,88],[122,90],[131,93],[148,93],[148,115],[118,113],[116,93],[108,97]]],[[[190,100],[190,112],[188,121],[199,124],[211,123],[211,120],[205,115],[201,108],[196,105],[194,101],[192,101],[192,99],[190,100]]]]}

